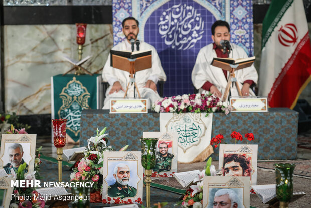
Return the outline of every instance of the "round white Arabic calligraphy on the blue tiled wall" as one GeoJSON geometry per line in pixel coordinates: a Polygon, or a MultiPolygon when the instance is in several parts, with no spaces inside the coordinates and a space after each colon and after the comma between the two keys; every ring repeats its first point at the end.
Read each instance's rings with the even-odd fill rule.
{"type": "Polygon", "coordinates": [[[194,47],[204,33],[201,14],[193,6],[182,3],[163,11],[158,26],[164,43],[177,50],[194,47]]]}

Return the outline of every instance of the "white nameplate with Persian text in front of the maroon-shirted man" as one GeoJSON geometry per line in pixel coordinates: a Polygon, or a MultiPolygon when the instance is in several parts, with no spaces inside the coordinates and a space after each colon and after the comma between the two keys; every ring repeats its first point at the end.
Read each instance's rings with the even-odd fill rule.
{"type": "Polygon", "coordinates": [[[267,112],[267,97],[230,97],[232,112],[267,112]]]}

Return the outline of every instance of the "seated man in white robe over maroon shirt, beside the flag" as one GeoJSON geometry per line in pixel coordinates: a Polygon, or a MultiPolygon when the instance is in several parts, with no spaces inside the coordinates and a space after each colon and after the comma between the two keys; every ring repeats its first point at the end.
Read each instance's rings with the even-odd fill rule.
{"type": "MultiPolygon", "coordinates": [[[[192,83],[199,93],[208,93],[210,91],[216,97],[222,99],[225,92],[230,73],[221,68],[211,65],[214,57],[239,59],[247,58],[244,49],[231,43],[232,51],[230,54],[223,53],[223,47],[220,41],[230,41],[230,27],[226,21],[217,20],[212,25],[212,40],[207,46],[201,48],[198,53],[195,66],[193,67],[191,79],[192,83]]],[[[237,70],[235,72],[237,83],[241,89],[242,96],[255,96],[250,86],[258,81],[258,73],[255,67],[237,70]]],[[[231,96],[239,96],[236,87],[231,87],[231,96]]]]}

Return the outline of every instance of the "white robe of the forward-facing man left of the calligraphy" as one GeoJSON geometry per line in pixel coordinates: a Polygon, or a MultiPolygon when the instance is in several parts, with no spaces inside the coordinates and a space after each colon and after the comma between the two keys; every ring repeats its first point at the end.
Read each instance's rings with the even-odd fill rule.
{"type": "MultiPolygon", "coordinates": [[[[114,46],[112,50],[117,50],[117,51],[129,50],[128,49],[129,43],[125,43],[125,41],[114,46]]],[[[136,50],[136,45],[135,45],[135,50],[136,50]]],[[[157,101],[157,99],[159,99],[160,96],[158,92],[154,92],[150,88],[144,88],[144,86],[146,85],[148,80],[152,80],[156,84],[159,80],[166,81],[166,75],[161,66],[160,58],[158,56],[156,49],[148,43],[141,42],[140,51],[147,51],[147,50],[152,51],[151,52],[152,53],[152,68],[136,72],[135,82],[137,84],[140,96],[142,98],[149,98],[148,108],[150,108],[150,105],[151,105],[150,102],[157,101]]],[[[107,62],[102,71],[102,77],[103,77],[103,80],[107,81],[110,85],[106,91],[106,99],[104,101],[104,107],[103,107],[103,109],[109,109],[110,98],[124,97],[124,94],[125,94],[125,92],[123,92],[122,90],[120,90],[119,92],[114,92],[112,94],[109,94],[113,83],[116,81],[119,81],[123,89],[126,90],[127,84],[129,82],[129,73],[127,71],[123,71],[123,70],[111,67],[110,66],[110,54],[109,54],[107,62]]],[[[129,84],[126,97],[134,97],[134,84],[129,84]]],[[[138,97],[137,90],[136,90],[136,97],[138,97]]]]}

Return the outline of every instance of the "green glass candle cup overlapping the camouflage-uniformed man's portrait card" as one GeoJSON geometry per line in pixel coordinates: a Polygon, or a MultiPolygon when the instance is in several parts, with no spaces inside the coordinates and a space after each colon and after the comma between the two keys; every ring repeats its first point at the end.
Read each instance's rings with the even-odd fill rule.
{"type": "Polygon", "coordinates": [[[156,138],[143,138],[141,142],[141,164],[144,169],[153,169],[156,166],[156,151],[157,142],[156,138]]]}

